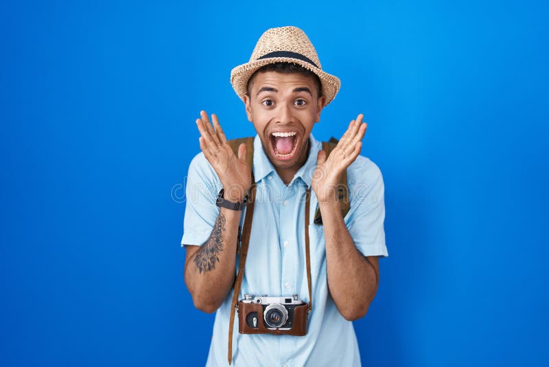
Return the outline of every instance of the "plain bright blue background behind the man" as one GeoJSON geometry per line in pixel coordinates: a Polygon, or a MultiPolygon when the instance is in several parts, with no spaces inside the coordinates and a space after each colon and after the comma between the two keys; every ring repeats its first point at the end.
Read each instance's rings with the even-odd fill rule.
{"type": "Polygon", "coordinates": [[[365,366],[547,366],[546,1],[2,1],[3,366],[200,366],[183,282],[194,120],[253,126],[229,83],[268,27],[309,35],[366,115],[390,257],[365,366]]]}

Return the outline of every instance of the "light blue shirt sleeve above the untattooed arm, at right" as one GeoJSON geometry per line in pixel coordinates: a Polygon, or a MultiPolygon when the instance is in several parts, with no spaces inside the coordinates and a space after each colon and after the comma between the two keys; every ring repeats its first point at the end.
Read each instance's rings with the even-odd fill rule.
{"type": "Polygon", "coordinates": [[[359,156],[347,170],[351,208],[345,216],[355,246],[364,256],[388,256],[385,244],[385,201],[381,170],[359,156]]]}

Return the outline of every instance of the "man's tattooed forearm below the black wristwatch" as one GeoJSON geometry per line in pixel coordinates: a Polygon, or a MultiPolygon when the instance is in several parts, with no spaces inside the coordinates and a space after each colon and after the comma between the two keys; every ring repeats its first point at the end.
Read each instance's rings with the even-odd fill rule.
{"type": "Polygon", "coordinates": [[[240,215],[220,208],[208,241],[202,247],[187,247],[185,283],[195,307],[202,311],[217,310],[233,286],[240,215]]]}

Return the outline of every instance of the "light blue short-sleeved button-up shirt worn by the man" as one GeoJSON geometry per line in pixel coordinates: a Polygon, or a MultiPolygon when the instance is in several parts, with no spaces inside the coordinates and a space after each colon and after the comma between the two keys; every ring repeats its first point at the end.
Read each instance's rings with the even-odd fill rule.
{"type": "MultiPolygon", "coordinates": [[[[245,293],[269,296],[298,294],[309,302],[305,267],[305,192],[311,186],[316,156],[322,148],[311,135],[307,162],[286,186],[255,137],[253,170],[257,182],[253,225],[246,271],[239,299],[245,293]]],[[[387,256],[383,228],[384,184],[379,168],[359,156],[347,169],[351,209],[344,221],[364,256],[387,256]]],[[[215,198],[222,188],[202,153],[189,166],[182,245],[202,245],[211,233],[219,208],[215,198]]],[[[360,366],[353,324],[345,320],[329,295],[326,249],[321,225],[313,223],[318,201],[309,203],[309,243],[313,310],[307,335],[242,335],[235,316],[232,366],[360,366]]],[[[242,215],[241,225],[244,223],[242,215]]],[[[236,265],[239,264],[239,256],[236,265]]],[[[231,291],[215,314],[207,366],[227,366],[227,335],[231,291]]]]}

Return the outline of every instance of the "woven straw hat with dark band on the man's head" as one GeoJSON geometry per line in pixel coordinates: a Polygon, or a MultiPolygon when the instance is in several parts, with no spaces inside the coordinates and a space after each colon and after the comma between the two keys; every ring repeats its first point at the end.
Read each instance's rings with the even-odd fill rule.
{"type": "Polygon", "coordinates": [[[320,78],[326,104],[334,100],[339,91],[339,78],[323,71],[316,50],[305,32],[297,27],[280,27],[266,30],[259,37],[250,61],[231,71],[231,84],[240,99],[244,100],[248,80],[255,71],[274,63],[298,64],[316,74],[320,78]]]}

